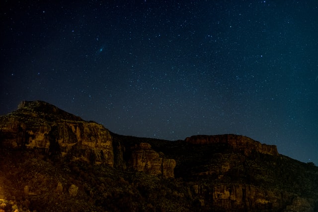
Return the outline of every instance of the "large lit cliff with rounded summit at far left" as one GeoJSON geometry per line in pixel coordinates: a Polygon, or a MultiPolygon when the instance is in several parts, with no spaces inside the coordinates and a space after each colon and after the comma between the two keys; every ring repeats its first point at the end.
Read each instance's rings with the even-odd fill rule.
{"type": "Polygon", "coordinates": [[[110,132],[42,101],[23,101],[0,117],[0,145],[42,149],[49,155],[113,166],[110,132]]]}

